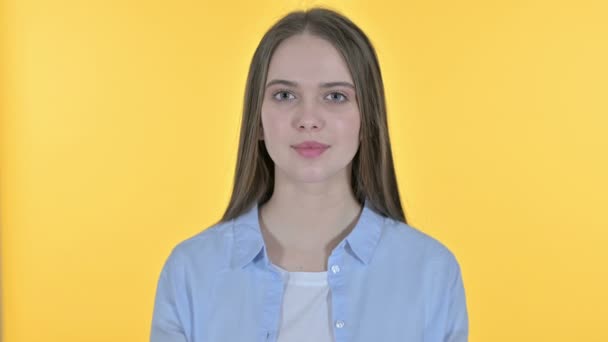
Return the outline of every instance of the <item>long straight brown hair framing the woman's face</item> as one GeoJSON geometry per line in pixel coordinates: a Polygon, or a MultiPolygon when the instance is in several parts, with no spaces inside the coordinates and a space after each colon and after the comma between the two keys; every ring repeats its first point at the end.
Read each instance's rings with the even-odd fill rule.
{"type": "Polygon", "coordinates": [[[264,204],[274,188],[274,162],[261,136],[261,108],[268,65],[285,39],[310,33],[330,42],[344,57],[355,83],[361,114],[361,143],[352,161],[351,186],[355,198],[385,217],[407,223],[399,189],[386,120],[384,86],[376,52],[352,21],[327,8],[294,11],[278,20],[262,37],[253,55],[243,105],[234,187],[220,222],[231,220],[264,204]]]}

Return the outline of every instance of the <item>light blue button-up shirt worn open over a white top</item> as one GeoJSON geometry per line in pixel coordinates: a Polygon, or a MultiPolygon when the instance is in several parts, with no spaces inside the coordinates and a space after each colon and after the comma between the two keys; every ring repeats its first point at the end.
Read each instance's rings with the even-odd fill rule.
{"type": "MultiPolygon", "coordinates": [[[[172,249],[156,289],[152,342],[277,340],[286,284],[268,258],[258,215],[256,204],[172,249]]],[[[332,251],[327,281],[336,342],[468,339],[454,254],[431,236],[381,216],[367,202],[353,230],[332,251]]]]}

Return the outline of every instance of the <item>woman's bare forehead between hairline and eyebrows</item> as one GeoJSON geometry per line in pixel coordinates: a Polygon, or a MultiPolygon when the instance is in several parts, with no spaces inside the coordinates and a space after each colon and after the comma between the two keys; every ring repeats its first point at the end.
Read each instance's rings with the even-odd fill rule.
{"type": "Polygon", "coordinates": [[[333,81],[352,82],[342,54],[327,40],[307,33],[289,37],[275,49],[267,79],[270,81],[273,78],[311,85],[333,81]]]}

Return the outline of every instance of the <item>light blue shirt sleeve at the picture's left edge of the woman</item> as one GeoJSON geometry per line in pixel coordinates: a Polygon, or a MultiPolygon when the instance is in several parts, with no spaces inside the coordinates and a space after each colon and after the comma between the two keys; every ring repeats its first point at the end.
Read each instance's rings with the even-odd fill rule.
{"type": "Polygon", "coordinates": [[[150,342],[188,342],[179,313],[180,289],[176,287],[179,272],[172,252],[157,283],[150,342]]]}

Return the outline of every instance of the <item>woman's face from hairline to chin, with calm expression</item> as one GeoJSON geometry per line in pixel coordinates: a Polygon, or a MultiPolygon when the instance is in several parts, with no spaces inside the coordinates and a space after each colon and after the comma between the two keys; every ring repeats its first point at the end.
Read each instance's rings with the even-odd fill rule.
{"type": "Polygon", "coordinates": [[[300,34],[277,47],[262,103],[263,139],[276,178],[310,183],[347,176],[360,122],[352,77],[331,43],[300,34]],[[327,148],[298,146],[310,141],[327,148]]]}

